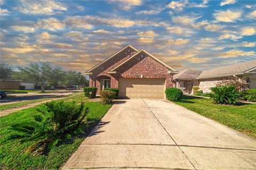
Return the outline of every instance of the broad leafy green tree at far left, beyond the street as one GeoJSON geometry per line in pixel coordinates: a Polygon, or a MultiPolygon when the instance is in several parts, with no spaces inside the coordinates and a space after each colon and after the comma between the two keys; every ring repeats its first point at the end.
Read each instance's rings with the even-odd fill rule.
{"type": "Polygon", "coordinates": [[[19,67],[20,73],[16,77],[24,81],[34,81],[41,86],[42,92],[49,83],[61,80],[61,67],[54,67],[49,62],[30,63],[28,66],[19,67]]]}

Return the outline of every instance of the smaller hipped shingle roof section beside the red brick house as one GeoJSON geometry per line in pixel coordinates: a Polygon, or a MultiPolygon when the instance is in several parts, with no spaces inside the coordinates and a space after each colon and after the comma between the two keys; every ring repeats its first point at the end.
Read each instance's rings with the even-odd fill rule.
{"type": "Polygon", "coordinates": [[[174,74],[173,79],[196,79],[201,72],[201,70],[186,69],[180,71],[178,74],[174,74]]]}

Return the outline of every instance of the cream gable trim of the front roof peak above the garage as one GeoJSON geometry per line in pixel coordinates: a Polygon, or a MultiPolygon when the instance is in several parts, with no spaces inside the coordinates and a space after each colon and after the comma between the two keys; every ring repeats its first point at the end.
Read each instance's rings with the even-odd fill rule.
{"type": "Polygon", "coordinates": [[[125,60],[123,63],[117,65],[114,69],[110,70],[109,73],[115,73],[116,70],[121,67],[122,65],[124,65],[125,63],[129,62],[130,60],[132,60],[132,58],[134,58],[135,56],[137,56],[140,53],[146,53],[149,57],[153,58],[155,61],[157,61],[158,63],[164,65],[167,69],[169,69],[170,72],[177,72],[177,70],[173,69],[172,67],[170,67],[169,65],[165,64],[164,62],[162,62],[161,60],[159,60],[158,58],[156,58],[154,55],[150,54],[149,52],[147,52],[145,49],[141,49],[139,50],[137,53],[133,54],[130,58],[128,58],[127,60],[125,60]]]}

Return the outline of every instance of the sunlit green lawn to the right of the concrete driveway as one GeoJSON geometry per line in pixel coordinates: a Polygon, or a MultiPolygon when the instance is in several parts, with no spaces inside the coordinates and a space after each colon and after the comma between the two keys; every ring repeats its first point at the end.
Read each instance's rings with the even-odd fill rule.
{"type": "Polygon", "coordinates": [[[256,104],[215,105],[211,99],[195,96],[174,103],[256,138],[256,104]]]}

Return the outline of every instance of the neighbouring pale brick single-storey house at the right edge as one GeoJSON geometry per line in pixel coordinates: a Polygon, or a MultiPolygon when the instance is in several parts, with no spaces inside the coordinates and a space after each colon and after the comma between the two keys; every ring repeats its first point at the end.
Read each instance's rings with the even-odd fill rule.
{"type": "Polygon", "coordinates": [[[249,88],[256,88],[256,60],[216,67],[210,70],[186,69],[173,76],[175,87],[187,94],[193,94],[193,87],[198,86],[203,92],[211,92],[216,83],[229,80],[230,77],[243,77],[249,82],[249,88]]]}

